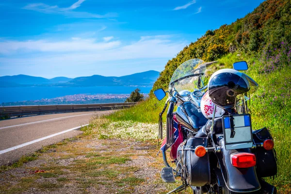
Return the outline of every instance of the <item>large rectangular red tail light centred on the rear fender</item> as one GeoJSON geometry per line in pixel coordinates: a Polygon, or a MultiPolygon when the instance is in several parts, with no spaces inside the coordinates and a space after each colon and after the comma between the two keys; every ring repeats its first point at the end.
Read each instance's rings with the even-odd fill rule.
{"type": "Polygon", "coordinates": [[[238,168],[248,168],[256,165],[256,156],[252,153],[237,153],[231,156],[231,163],[238,168]]]}

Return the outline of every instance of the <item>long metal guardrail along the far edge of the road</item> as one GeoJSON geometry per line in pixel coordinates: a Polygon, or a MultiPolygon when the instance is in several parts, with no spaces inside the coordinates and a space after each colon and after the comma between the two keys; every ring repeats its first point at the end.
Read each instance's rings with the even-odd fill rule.
{"type": "Polygon", "coordinates": [[[25,116],[46,113],[72,113],[83,111],[105,111],[134,106],[136,102],[105,103],[105,104],[61,104],[61,105],[33,105],[33,106],[0,106],[0,118],[25,116]]]}

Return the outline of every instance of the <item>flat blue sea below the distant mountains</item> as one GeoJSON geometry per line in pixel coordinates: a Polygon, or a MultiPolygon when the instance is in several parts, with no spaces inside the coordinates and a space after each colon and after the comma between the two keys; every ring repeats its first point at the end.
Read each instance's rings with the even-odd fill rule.
{"type": "MultiPolygon", "coordinates": [[[[141,93],[148,94],[152,87],[139,87],[141,93]]],[[[75,94],[130,94],[133,86],[94,87],[1,87],[0,103],[26,100],[40,100],[75,94]]]]}

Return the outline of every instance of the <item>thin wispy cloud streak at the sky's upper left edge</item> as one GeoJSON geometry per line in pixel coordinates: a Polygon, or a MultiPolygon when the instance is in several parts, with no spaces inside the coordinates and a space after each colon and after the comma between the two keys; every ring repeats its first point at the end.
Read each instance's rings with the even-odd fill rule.
{"type": "Polygon", "coordinates": [[[33,10],[45,14],[62,14],[68,17],[79,17],[79,18],[110,18],[117,17],[116,13],[108,13],[105,15],[92,14],[88,12],[77,12],[74,11],[76,8],[81,6],[81,3],[85,0],[78,0],[69,7],[59,7],[58,5],[48,5],[45,3],[31,3],[23,7],[26,10],[33,10]]]}

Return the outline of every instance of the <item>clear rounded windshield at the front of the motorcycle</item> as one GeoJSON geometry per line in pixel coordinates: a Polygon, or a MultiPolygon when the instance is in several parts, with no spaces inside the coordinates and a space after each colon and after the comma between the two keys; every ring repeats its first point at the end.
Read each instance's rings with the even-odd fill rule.
{"type": "Polygon", "coordinates": [[[206,65],[201,59],[190,59],[178,66],[169,85],[169,91],[176,90],[180,95],[186,91],[193,92],[204,86],[206,65]]]}

